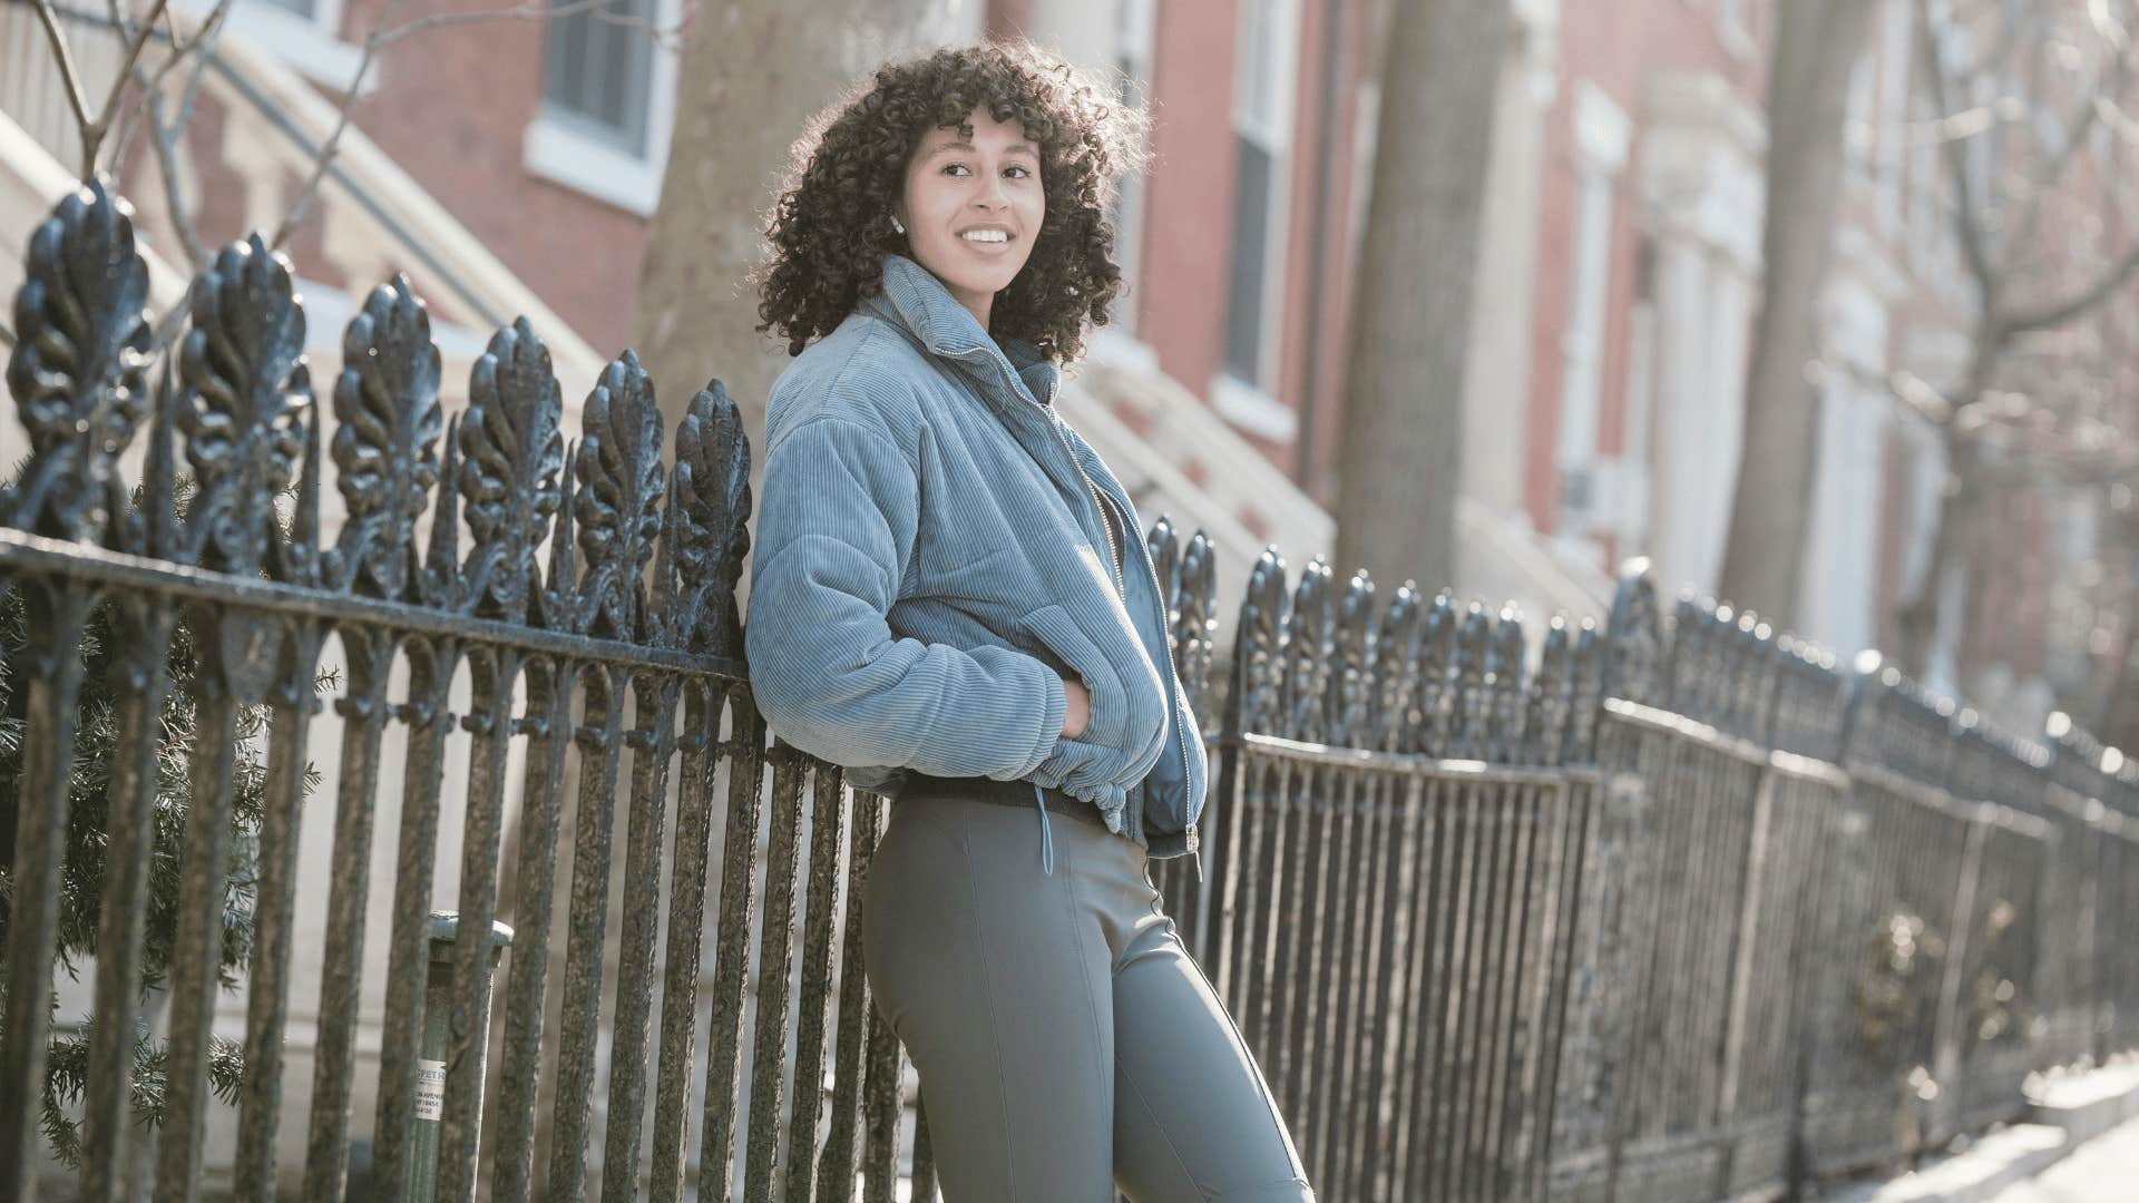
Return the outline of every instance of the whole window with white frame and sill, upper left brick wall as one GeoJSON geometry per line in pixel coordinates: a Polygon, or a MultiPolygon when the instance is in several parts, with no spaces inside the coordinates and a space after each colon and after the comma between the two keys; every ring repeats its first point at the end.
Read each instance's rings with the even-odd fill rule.
{"type": "Polygon", "coordinates": [[[650,216],[676,124],[682,0],[603,0],[588,11],[580,2],[550,0],[541,111],[528,122],[526,165],[650,216]]]}

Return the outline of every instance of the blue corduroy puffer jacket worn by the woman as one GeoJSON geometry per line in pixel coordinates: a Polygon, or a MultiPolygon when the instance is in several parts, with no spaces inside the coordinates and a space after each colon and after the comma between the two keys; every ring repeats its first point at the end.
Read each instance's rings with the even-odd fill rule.
{"type": "Polygon", "coordinates": [[[1029,779],[1151,858],[1194,854],[1204,747],[1157,572],[1127,490],[1055,413],[1059,379],[886,257],[881,295],[766,402],[751,689],[858,788],[896,794],[909,768],[1029,779]],[[1065,674],[1091,691],[1078,738],[1061,738],[1065,674]]]}

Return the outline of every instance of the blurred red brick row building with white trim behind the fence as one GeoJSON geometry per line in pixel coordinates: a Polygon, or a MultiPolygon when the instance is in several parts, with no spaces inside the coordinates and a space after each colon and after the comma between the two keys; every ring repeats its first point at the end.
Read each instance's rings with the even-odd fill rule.
{"type": "MultiPolygon", "coordinates": [[[[173,9],[199,17],[210,4],[173,9]]],[[[742,9],[612,0],[605,11],[573,4],[526,19],[543,15],[530,4],[404,30],[379,47],[351,126],[336,137],[372,32],[483,9],[235,0],[197,92],[182,96],[167,81],[169,154],[156,154],[154,128],[139,131],[122,184],[178,268],[246,229],[274,229],[332,141],[338,154],[287,242],[314,357],[332,366],[357,298],[406,270],[451,360],[471,360],[483,332],[528,313],[575,398],[601,351],[633,332],[693,21],[734,24],[742,9]],[[182,128],[180,103],[195,109],[182,128]],[[169,184],[163,161],[173,163],[169,184]]],[[[1153,109],[1151,171],[1127,184],[1119,210],[1129,291],[1065,413],[1123,465],[1151,516],[1211,531],[1224,569],[1245,572],[1268,542],[1294,559],[1328,548],[1388,0],[926,9],[922,43],[1027,34],[1153,109]]],[[[1452,580],[1420,584],[1512,597],[1534,614],[1596,614],[1609,569],[1647,554],[1671,587],[1713,593],[1760,304],[1773,4],[1512,0],[1510,11],[1506,45],[1478,47],[1502,66],[1472,353],[1461,385],[1420,385],[1463,394],[1461,426],[1444,432],[1461,439],[1459,552],[1452,580]]],[[[1970,171],[1991,182],[2000,139],[2053,137],[2056,113],[2041,109],[2090,101],[2081,86],[2045,94],[2036,111],[2004,111],[2026,64],[1991,60],[1985,45],[2038,11],[2094,6],[1874,4],[1848,86],[1833,265],[1818,310],[1812,531],[1801,595],[1786,606],[1795,629],[1850,655],[1899,646],[1906,599],[1936,589],[1944,604],[1923,674],[2011,709],[2019,726],[2060,698],[2092,700],[2107,715],[2126,694],[2128,484],[2002,479],[1925,587],[1953,452],[1940,426],[1897,396],[1895,377],[1966,372],[1981,317],[1940,171],[1951,113],[1938,116],[1921,79],[1919,13],[1932,15],[1940,56],[1976,64],[1966,83],[1998,109],[1996,128],[1968,152],[1970,171]]],[[[94,28],[107,11],[79,6],[71,19],[94,28]]],[[[116,60],[118,39],[77,43],[83,77],[101,88],[98,64],[116,60]]],[[[873,62],[877,49],[858,45],[853,58],[873,62]]],[[[0,216],[19,235],[64,184],[77,143],[28,4],[0,11],[0,113],[11,122],[0,216]]],[[[1966,116],[1961,101],[1970,96],[1949,96],[1944,109],[1966,116]]],[[[2086,137],[2111,154],[2130,139],[2122,109],[2090,126],[2086,137]]],[[[2058,180],[2045,205],[2053,229],[2128,227],[2128,158],[2107,163],[2126,167],[2058,180]]],[[[759,197],[779,178],[779,163],[719,169],[747,173],[759,197]]],[[[2021,263],[2023,274],[2034,268],[2021,263]]],[[[742,289],[734,278],[699,287],[742,289]]],[[[2135,340],[2130,287],[2032,334],[2006,357],[1998,387],[2038,405],[2000,422],[2064,443],[2075,422],[2128,430],[2135,340]]]]}

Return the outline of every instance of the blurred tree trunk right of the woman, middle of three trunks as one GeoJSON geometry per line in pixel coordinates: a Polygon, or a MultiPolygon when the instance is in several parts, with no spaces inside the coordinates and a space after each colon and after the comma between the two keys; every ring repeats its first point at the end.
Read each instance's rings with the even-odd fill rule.
{"type": "Polygon", "coordinates": [[[1440,587],[1455,569],[1463,370],[1510,39],[1508,0],[1397,4],[1352,298],[1337,565],[1440,587]]]}

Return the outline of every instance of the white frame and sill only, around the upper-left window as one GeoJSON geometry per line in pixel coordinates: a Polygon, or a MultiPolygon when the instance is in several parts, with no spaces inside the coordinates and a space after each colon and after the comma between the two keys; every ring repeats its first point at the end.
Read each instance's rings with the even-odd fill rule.
{"type": "MultiPolygon", "coordinates": [[[[674,34],[682,0],[655,0],[655,28],[674,34]]],[[[674,36],[655,39],[652,73],[646,83],[646,150],[631,152],[586,128],[584,120],[560,113],[548,101],[535,111],[522,137],[526,169],[543,180],[584,193],[629,214],[652,216],[661,203],[670,139],[676,133],[676,47],[674,36]]]]}

